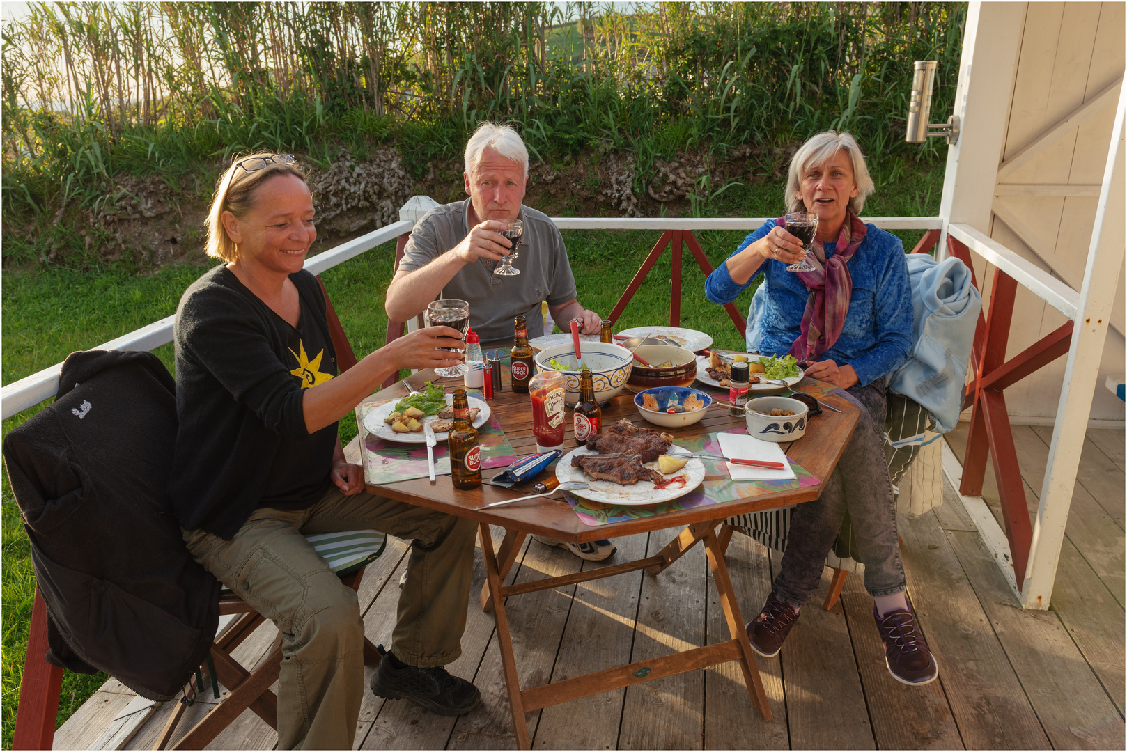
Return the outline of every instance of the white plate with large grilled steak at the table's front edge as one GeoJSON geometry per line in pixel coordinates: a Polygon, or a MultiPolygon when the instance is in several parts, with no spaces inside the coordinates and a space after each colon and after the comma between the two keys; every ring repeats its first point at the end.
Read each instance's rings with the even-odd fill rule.
{"type": "Polygon", "coordinates": [[[684,496],[704,480],[704,465],[698,459],[689,460],[676,472],[664,476],[657,471],[656,461],[642,462],[640,454],[603,454],[589,448],[589,439],[587,443],[588,446],[579,446],[560,458],[556,477],[560,483],[587,481],[587,488],[568,493],[593,502],[627,506],[659,504],[684,496]]]}

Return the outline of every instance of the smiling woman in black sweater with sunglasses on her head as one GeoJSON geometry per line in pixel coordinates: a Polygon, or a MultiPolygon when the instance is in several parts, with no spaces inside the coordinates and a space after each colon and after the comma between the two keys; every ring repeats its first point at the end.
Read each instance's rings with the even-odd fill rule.
{"type": "Polygon", "coordinates": [[[392,651],[373,678],[385,698],[461,715],[480,693],[443,666],[461,653],[476,525],[365,492],[337,422],[399,369],[455,365],[449,327],[412,331],[348,371],[336,364],[317,278],[317,230],[292,154],[237,160],[207,218],[225,262],[176,311],[179,427],[169,485],[188,550],[282,636],[278,747],[352,749],[364,689],[364,622],[307,534],[375,529],[414,540],[392,651]]]}

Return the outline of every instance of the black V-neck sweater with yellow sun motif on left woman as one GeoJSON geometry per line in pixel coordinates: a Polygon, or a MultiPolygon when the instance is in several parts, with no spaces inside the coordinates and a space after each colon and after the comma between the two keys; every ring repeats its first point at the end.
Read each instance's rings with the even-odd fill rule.
{"type": "MultiPolygon", "coordinates": [[[[301,297],[302,326],[320,328],[321,370],[336,374],[320,284],[304,271],[290,280],[301,297]]],[[[222,265],[180,298],[174,328],[179,432],[169,495],[186,530],[230,540],[255,508],[300,508],[302,499],[308,506],[328,487],[337,424],[312,435],[305,430],[301,381],[287,365],[293,356],[279,321],[222,265]],[[283,450],[308,461],[277,467],[283,450]],[[284,497],[264,495],[277,490],[279,479],[284,497]]]]}

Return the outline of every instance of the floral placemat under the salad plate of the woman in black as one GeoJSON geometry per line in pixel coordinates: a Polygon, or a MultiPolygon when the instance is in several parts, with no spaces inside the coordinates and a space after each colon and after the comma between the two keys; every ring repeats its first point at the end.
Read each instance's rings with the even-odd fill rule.
{"type": "MultiPolygon", "coordinates": [[[[468,389],[468,393],[480,396],[477,389],[468,389]]],[[[380,399],[379,393],[370,400],[356,406],[356,431],[361,441],[361,467],[364,468],[364,480],[371,485],[383,485],[426,478],[427,469],[426,444],[401,444],[373,436],[364,427],[364,416],[369,410],[383,405],[388,399],[380,399]]],[[[513,444],[505,437],[497,418],[489,419],[478,428],[478,443],[481,446],[481,467],[506,467],[516,461],[513,444]]],[[[450,452],[446,442],[440,441],[434,448],[435,475],[450,475],[450,452]]]]}

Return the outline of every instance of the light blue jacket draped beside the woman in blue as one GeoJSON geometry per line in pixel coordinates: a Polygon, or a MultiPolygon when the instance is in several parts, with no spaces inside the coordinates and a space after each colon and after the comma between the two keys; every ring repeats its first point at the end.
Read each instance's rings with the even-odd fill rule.
{"type": "Polygon", "coordinates": [[[912,351],[908,362],[888,377],[888,388],[931,413],[941,433],[962,412],[967,364],[983,301],[970,269],[958,258],[937,262],[908,254],[912,287],[912,351]]]}

